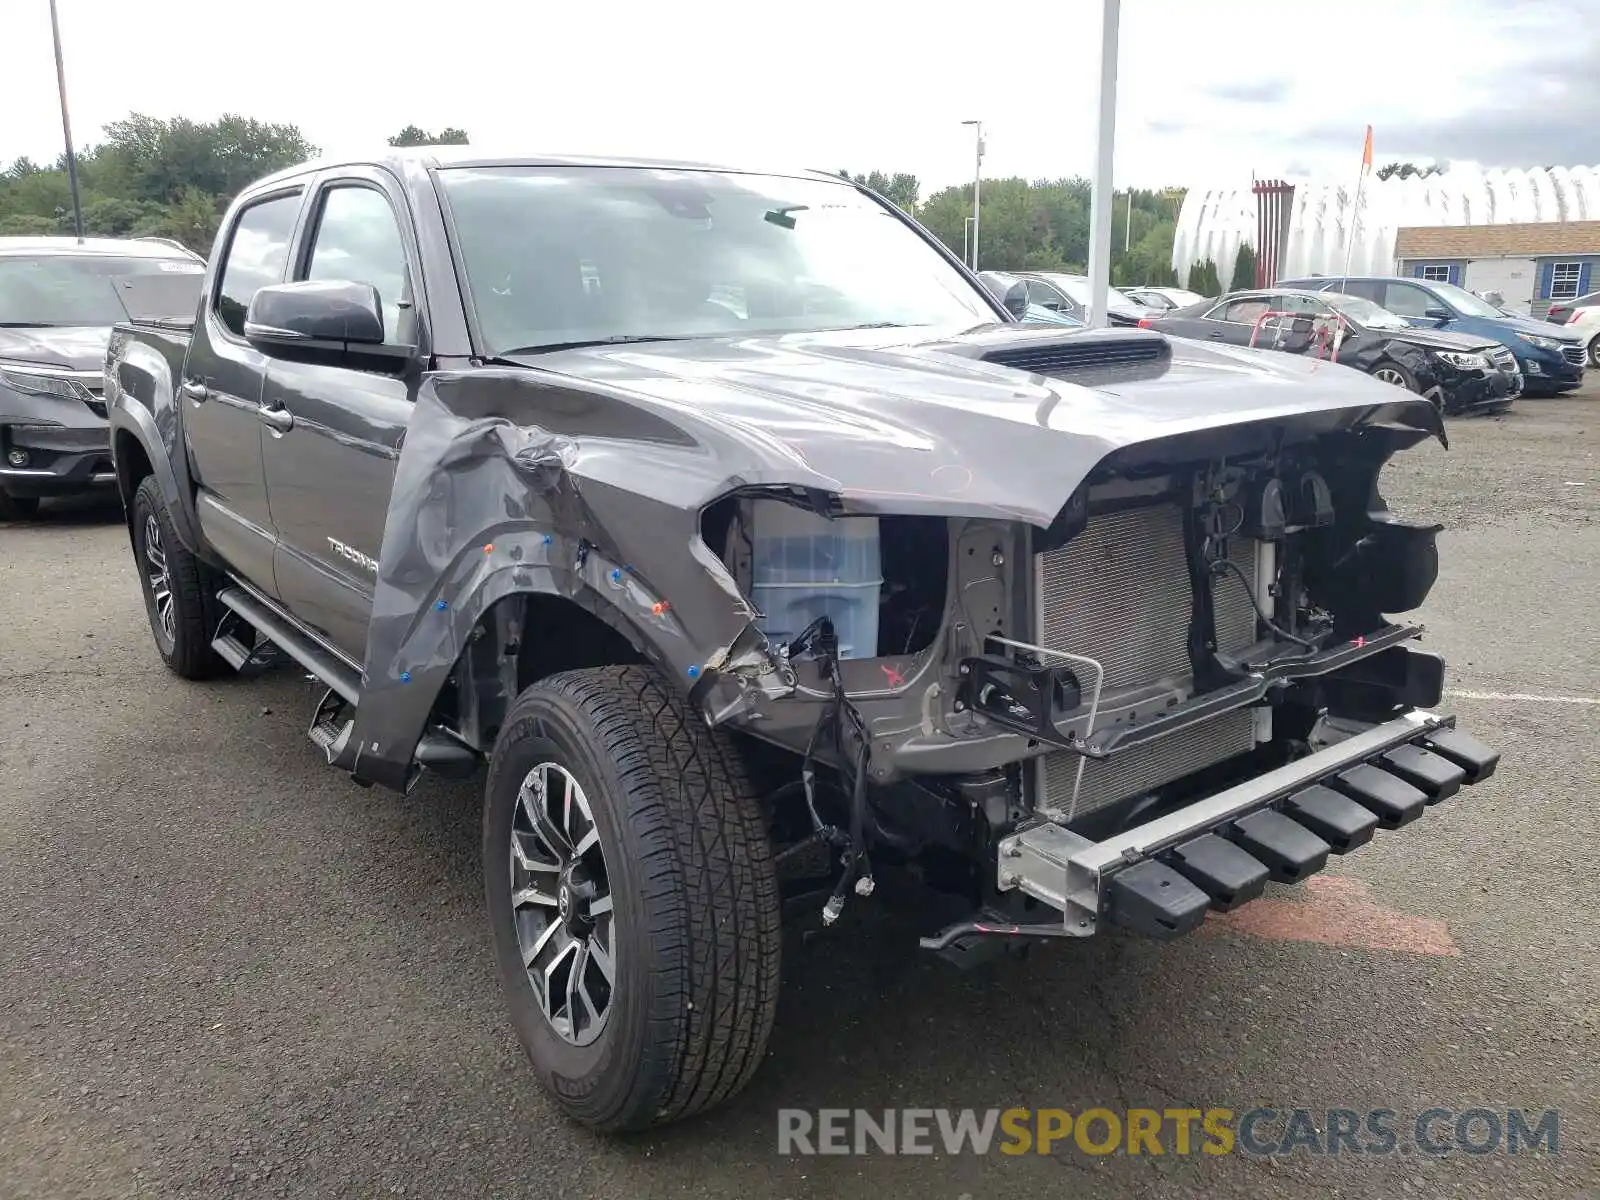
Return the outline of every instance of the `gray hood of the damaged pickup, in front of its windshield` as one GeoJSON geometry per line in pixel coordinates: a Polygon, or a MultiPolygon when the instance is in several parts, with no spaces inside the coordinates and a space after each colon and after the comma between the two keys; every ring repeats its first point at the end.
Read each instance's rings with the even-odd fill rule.
{"type": "Polygon", "coordinates": [[[584,379],[630,402],[642,429],[693,438],[686,461],[699,477],[677,480],[680,496],[790,485],[837,494],[854,512],[1005,514],[1046,526],[1109,454],[1144,446],[1141,458],[1160,461],[1163,448],[1147,443],[1227,427],[1306,437],[1389,422],[1443,440],[1426,400],[1294,355],[1131,330],[994,325],[920,342],[906,334],[707,338],[510,362],[584,379]],[[1118,347],[1150,339],[1171,357],[1115,362],[1118,347]],[[1067,381],[979,357],[1018,347],[1093,350],[1101,362],[1067,381]]]}

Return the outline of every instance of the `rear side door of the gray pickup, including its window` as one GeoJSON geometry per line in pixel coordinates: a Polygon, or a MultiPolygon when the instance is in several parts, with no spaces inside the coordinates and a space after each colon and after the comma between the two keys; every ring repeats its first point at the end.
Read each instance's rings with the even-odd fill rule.
{"type": "Polygon", "coordinates": [[[269,595],[277,595],[277,586],[261,462],[267,358],[245,341],[245,310],[259,288],[283,282],[304,198],[304,187],[286,187],[238,211],[178,381],[200,531],[230,568],[269,595]]]}

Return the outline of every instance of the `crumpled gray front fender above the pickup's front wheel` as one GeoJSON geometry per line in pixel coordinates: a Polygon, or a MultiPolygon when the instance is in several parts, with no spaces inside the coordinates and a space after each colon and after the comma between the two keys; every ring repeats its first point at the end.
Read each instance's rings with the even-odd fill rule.
{"type": "MultiPolygon", "coordinates": [[[[648,413],[630,419],[544,376],[429,379],[378,557],[357,774],[390,786],[405,778],[474,627],[512,594],[582,605],[686,688],[718,648],[725,670],[774,675],[765,638],[750,637],[754,610],[699,539],[702,491],[685,490],[669,466],[694,451],[648,413]]],[[[741,690],[723,680],[717,706],[736,710],[741,690]]]]}

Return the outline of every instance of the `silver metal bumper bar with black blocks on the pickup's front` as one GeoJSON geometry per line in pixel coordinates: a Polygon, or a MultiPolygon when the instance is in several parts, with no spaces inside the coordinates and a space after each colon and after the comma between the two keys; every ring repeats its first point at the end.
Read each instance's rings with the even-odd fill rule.
{"type": "Polygon", "coordinates": [[[1454,717],[1413,709],[1104,842],[1058,824],[1013,834],[998,846],[998,888],[1059,910],[1067,936],[1109,920],[1176,938],[1210,909],[1306,878],[1374,830],[1414,821],[1498,763],[1454,717]]]}

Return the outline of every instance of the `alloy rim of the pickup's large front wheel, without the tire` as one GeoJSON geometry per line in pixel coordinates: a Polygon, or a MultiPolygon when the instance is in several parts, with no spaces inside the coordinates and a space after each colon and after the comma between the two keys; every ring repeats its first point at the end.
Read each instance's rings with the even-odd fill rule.
{"type": "Polygon", "coordinates": [[[589,797],[558,763],[522,781],[510,827],[510,907],[539,1011],[586,1046],[611,1014],[616,914],[589,797]]]}

